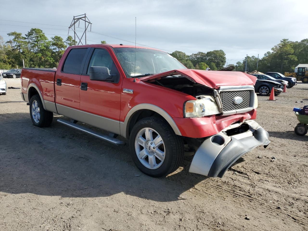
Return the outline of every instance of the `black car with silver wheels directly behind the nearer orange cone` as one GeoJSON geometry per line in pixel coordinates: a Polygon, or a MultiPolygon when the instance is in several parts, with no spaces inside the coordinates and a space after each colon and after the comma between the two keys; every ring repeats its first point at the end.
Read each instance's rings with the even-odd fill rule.
{"type": "Polygon", "coordinates": [[[274,94],[279,95],[283,91],[284,85],[273,80],[257,79],[256,84],[254,85],[254,91],[260,95],[269,95],[273,87],[274,94]]]}

